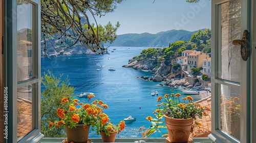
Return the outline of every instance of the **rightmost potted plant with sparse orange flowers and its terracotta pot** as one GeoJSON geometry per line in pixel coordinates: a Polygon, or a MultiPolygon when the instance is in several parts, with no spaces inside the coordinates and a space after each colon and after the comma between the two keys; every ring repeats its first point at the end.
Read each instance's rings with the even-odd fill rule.
{"type": "Polygon", "coordinates": [[[151,129],[143,130],[143,137],[148,137],[160,128],[167,128],[167,142],[188,142],[190,132],[193,132],[193,123],[198,124],[196,118],[202,118],[202,115],[207,115],[209,107],[204,107],[193,103],[193,98],[187,96],[180,99],[180,93],[165,94],[164,97],[158,97],[158,108],[153,112],[156,118],[151,116],[146,117],[152,123],[151,129]],[[164,122],[161,121],[165,118],[164,122]]]}

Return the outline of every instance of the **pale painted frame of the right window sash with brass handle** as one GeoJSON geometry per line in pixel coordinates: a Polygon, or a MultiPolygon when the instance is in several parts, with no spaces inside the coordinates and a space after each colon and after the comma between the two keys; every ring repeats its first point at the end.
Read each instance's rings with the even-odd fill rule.
{"type": "MultiPolygon", "coordinates": [[[[240,75],[240,84],[236,84],[233,82],[229,82],[226,80],[222,80],[218,78],[218,36],[220,33],[220,29],[218,29],[220,27],[219,24],[219,5],[222,3],[228,2],[227,0],[221,1],[221,0],[212,0],[211,1],[211,17],[212,17],[212,23],[211,23],[211,37],[212,37],[212,41],[211,41],[211,62],[212,62],[212,66],[211,66],[211,134],[209,135],[209,138],[211,138],[212,140],[216,141],[216,142],[255,142],[255,137],[254,141],[250,140],[252,138],[252,136],[255,136],[255,128],[252,129],[250,128],[250,124],[252,123],[252,118],[250,118],[250,116],[252,115],[251,112],[251,106],[249,105],[249,102],[251,102],[249,100],[249,97],[252,97],[253,92],[249,89],[252,88],[252,85],[254,85],[255,88],[255,84],[250,84],[251,81],[250,79],[254,79],[255,81],[255,75],[252,75],[252,70],[249,71],[249,64],[253,63],[252,58],[248,58],[248,60],[245,62],[242,60],[241,58],[241,75],[240,75]],[[219,130],[220,127],[220,121],[219,121],[219,117],[220,117],[220,97],[218,96],[218,88],[220,88],[220,84],[224,84],[224,85],[228,85],[228,86],[233,86],[233,87],[240,87],[240,92],[241,94],[243,94],[243,96],[241,95],[241,111],[240,111],[240,116],[241,116],[241,135],[240,135],[240,141],[233,138],[232,136],[229,136],[227,134],[225,134],[224,132],[222,132],[221,130],[219,130]],[[244,88],[245,87],[245,88],[244,88]],[[253,131],[254,130],[254,131],[253,131]],[[254,135],[252,134],[254,133],[254,135]]],[[[247,17],[247,15],[250,15],[250,11],[248,10],[250,7],[249,1],[247,0],[241,0],[241,33],[243,33],[244,30],[249,30],[250,32],[250,28],[249,28],[249,22],[244,23],[244,21],[248,21],[250,20],[250,17],[247,17]],[[248,9],[247,9],[248,8],[248,9]]],[[[253,2],[251,2],[253,3],[253,2]]],[[[255,4],[254,4],[255,5],[255,4]]],[[[253,9],[253,7],[252,7],[253,9]]],[[[251,27],[253,27],[253,25],[251,25],[251,27]]],[[[254,32],[255,33],[255,32],[254,32]]],[[[242,37],[242,36],[241,36],[242,37]]],[[[250,37],[252,37],[252,32],[250,33],[250,37]]],[[[251,45],[251,41],[250,40],[250,45],[251,45]]],[[[255,51],[255,49],[253,49],[255,51]]],[[[255,52],[254,52],[255,55],[255,52]]],[[[254,64],[255,64],[255,57],[254,57],[254,64]]],[[[255,68],[254,68],[254,73],[255,73],[255,68]]],[[[255,89],[254,89],[254,93],[255,93],[255,89]]],[[[255,101],[255,98],[254,98],[255,101]]],[[[254,105],[255,106],[255,105],[254,105]]],[[[255,107],[254,107],[255,109],[255,107]]],[[[255,110],[254,110],[255,111],[255,110]]],[[[255,116],[255,115],[254,115],[255,116]]],[[[255,121],[255,117],[254,117],[254,121],[255,121]]],[[[254,127],[255,127],[255,123],[254,123],[254,127]]]]}

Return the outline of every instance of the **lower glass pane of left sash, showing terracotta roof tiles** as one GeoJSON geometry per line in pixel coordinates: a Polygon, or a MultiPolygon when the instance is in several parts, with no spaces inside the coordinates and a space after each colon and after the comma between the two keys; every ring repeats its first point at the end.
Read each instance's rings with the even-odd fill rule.
{"type": "Polygon", "coordinates": [[[22,139],[33,130],[32,85],[17,90],[17,137],[22,139]]]}

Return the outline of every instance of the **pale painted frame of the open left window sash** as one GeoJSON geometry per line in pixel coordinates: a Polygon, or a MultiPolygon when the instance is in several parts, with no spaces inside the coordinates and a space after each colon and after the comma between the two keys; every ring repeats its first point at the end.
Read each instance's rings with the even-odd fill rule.
{"type": "Polygon", "coordinates": [[[5,86],[8,87],[8,139],[17,142],[17,89],[34,84],[32,93],[33,130],[18,142],[38,142],[44,135],[40,133],[40,0],[26,0],[33,5],[33,77],[17,82],[17,1],[5,1],[5,86]]]}

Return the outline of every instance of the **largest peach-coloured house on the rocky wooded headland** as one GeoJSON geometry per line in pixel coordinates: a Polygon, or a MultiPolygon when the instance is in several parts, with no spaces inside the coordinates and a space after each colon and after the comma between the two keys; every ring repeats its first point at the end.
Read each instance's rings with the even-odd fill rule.
{"type": "Polygon", "coordinates": [[[209,58],[209,55],[202,52],[189,53],[187,55],[187,72],[191,74],[192,67],[202,67],[205,58],[209,58]]]}

